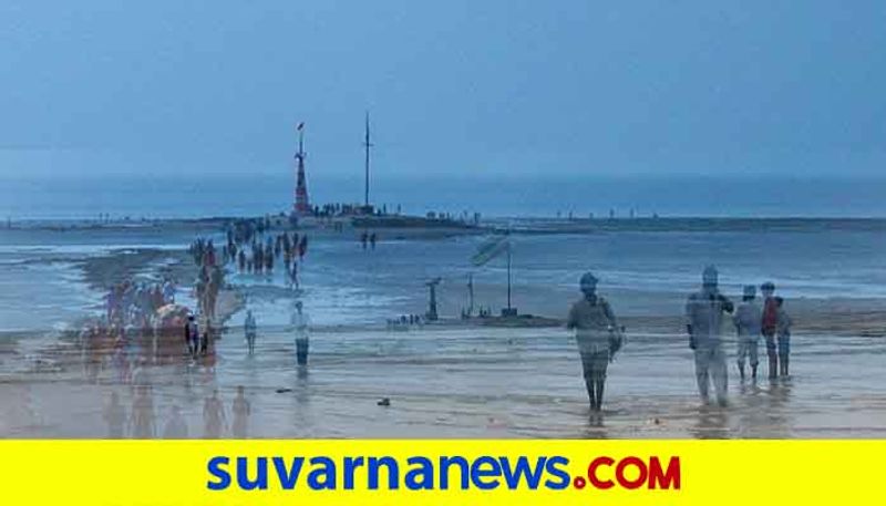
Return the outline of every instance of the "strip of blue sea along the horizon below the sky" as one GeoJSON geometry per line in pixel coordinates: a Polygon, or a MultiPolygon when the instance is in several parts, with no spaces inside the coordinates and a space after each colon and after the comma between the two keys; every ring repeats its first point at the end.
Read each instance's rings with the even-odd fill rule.
{"type": "MultiPolygon", "coordinates": [[[[291,167],[231,175],[0,176],[0,219],[264,216],[288,211],[291,167]]],[[[363,202],[363,174],[309,168],[312,204],[363,202]]],[[[389,211],[483,216],[803,216],[886,217],[886,178],[787,176],[594,176],[507,177],[398,175],[378,167],[371,200],[389,211]]]]}

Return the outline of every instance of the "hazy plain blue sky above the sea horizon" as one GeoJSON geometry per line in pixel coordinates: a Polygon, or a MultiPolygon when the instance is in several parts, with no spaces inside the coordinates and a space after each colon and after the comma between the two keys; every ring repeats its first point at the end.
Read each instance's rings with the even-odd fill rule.
{"type": "Polygon", "coordinates": [[[877,174],[886,2],[0,2],[0,175],[877,174]]]}

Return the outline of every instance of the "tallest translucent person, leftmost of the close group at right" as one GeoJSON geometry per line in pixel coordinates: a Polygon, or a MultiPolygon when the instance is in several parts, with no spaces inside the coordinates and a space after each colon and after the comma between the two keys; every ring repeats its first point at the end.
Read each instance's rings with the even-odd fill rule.
{"type": "Polygon", "coordinates": [[[732,313],[733,306],[719,291],[715,267],[705,267],[701,278],[701,291],[689,296],[686,304],[689,348],[696,354],[696,381],[702,402],[708,402],[708,390],[713,382],[717,402],[725,406],[728,372],[720,333],[723,314],[732,313]]]}

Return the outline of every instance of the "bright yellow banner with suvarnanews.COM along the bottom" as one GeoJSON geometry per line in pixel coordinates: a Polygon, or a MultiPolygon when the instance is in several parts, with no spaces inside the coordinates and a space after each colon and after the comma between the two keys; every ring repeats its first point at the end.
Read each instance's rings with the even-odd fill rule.
{"type": "Polygon", "coordinates": [[[3,441],[3,505],[884,504],[886,441],[3,441]]]}

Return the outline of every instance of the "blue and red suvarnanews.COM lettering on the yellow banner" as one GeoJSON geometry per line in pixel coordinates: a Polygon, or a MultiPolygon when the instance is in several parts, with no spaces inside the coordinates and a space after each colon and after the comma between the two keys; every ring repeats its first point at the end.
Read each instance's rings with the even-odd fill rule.
{"type": "Polygon", "coordinates": [[[680,489],[679,456],[214,456],[209,490],[680,489]]]}

